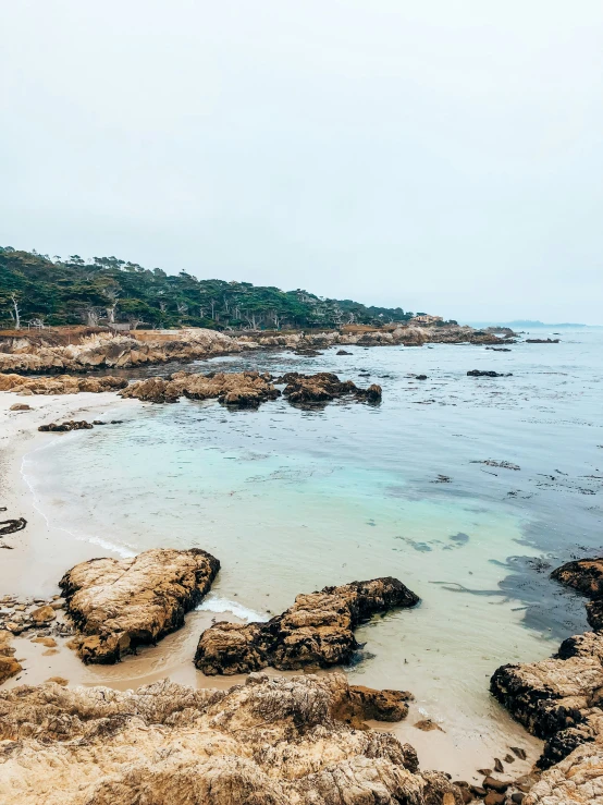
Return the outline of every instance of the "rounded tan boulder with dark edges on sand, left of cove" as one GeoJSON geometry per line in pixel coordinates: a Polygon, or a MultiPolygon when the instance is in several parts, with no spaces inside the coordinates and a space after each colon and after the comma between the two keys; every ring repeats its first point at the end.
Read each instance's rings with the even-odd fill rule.
{"type": "Polygon", "coordinates": [[[218,559],[198,548],[75,565],[59,583],[78,630],[72,647],[84,662],[109,663],[157,642],[182,626],[219,569],[218,559]]]}

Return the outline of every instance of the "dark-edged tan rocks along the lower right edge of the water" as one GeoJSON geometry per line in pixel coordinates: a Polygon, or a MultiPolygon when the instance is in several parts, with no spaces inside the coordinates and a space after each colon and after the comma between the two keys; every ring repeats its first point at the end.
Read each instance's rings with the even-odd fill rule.
{"type": "Polygon", "coordinates": [[[603,558],[569,562],[551,577],[590,598],[593,632],[568,637],[541,662],[507,664],[492,694],[527,730],[545,741],[545,769],[524,805],[603,802],[603,558]]]}

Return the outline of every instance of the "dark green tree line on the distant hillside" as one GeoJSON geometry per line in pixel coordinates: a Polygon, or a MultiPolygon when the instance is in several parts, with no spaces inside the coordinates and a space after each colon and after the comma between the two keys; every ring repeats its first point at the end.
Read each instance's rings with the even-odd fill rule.
{"type": "Polygon", "coordinates": [[[116,257],[67,258],[0,246],[0,327],[119,325],[280,330],[380,325],[413,318],[308,291],[169,275],[116,257]]]}

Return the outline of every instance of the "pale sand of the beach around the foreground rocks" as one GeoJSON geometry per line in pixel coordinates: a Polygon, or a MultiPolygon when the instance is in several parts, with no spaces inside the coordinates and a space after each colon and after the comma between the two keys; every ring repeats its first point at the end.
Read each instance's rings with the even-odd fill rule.
{"type": "MultiPolygon", "coordinates": [[[[58,581],[65,570],[77,562],[112,552],[98,544],[78,538],[66,528],[53,526],[39,508],[27,477],[23,473],[24,456],[32,460],[35,451],[52,441],[76,437],[77,434],[39,434],[42,423],[71,418],[125,418],[140,406],[137,401],[123,401],[112,393],[65,397],[26,397],[0,393],[0,505],[5,505],[7,517],[23,516],[27,526],[2,540],[13,550],[2,551],[0,591],[19,596],[50,597],[59,593],[58,581]],[[10,412],[11,405],[25,402],[27,412],[10,412]]],[[[112,427],[112,426],[106,426],[112,427]]],[[[114,426],[119,427],[119,426],[114,426]]],[[[115,553],[113,553],[115,556],[115,553]]],[[[29,641],[30,634],[14,638],[15,657],[24,666],[23,672],[9,680],[4,687],[20,684],[39,684],[51,676],[62,676],[70,685],[107,685],[126,690],[169,676],[174,682],[196,687],[230,687],[244,676],[207,678],[193,664],[193,656],[200,633],[216,620],[237,620],[232,613],[194,611],[179,632],[169,635],[157,646],[141,649],[137,656],[125,658],[116,666],[84,666],[66,646],[66,639],[57,637],[56,654],[29,641]]],[[[272,671],[269,671],[272,673],[272,671]]],[[[274,672],[275,673],[275,672],[274,672]]],[[[484,685],[488,680],[484,679],[484,685]]],[[[424,718],[418,705],[411,705],[406,721],[399,724],[371,724],[393,732],[410,743],[418,752],[422,768],[447,771],[455,779],[479,782],[478,768],[491,768],[494,756],[503,757],[509,745],[521,746],[528,760],[516,760],[508,767],[509,774],[518,777],[529,770],[541,752],[542,742],[528,735],[518,724],[505,721],[501,734],[480,735],[468,731],[466,740],[458,741],[446,732],[422,732],[414,724],[424,718]]]]}

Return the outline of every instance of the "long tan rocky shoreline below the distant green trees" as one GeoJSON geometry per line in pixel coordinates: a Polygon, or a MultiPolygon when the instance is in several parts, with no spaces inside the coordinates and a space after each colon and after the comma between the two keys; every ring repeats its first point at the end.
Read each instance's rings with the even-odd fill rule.
{"type": "Polygon", "coordinates": [[[426,343],[495,344],[501,339],[471,327],[401,326],[394,329],[340,330],[229,336],[217,330],[187,328],[174,331],[133,331],[115,336],[110,331],[73,336],[71,343],[57,344],[44,330],[36,336],[0,338],[0,373],[63,374],[94,369],[127,368],[172,361],[190,362],[248,350],[294,350],[308,352],[337,345],[421,346],[426,343]]]}

